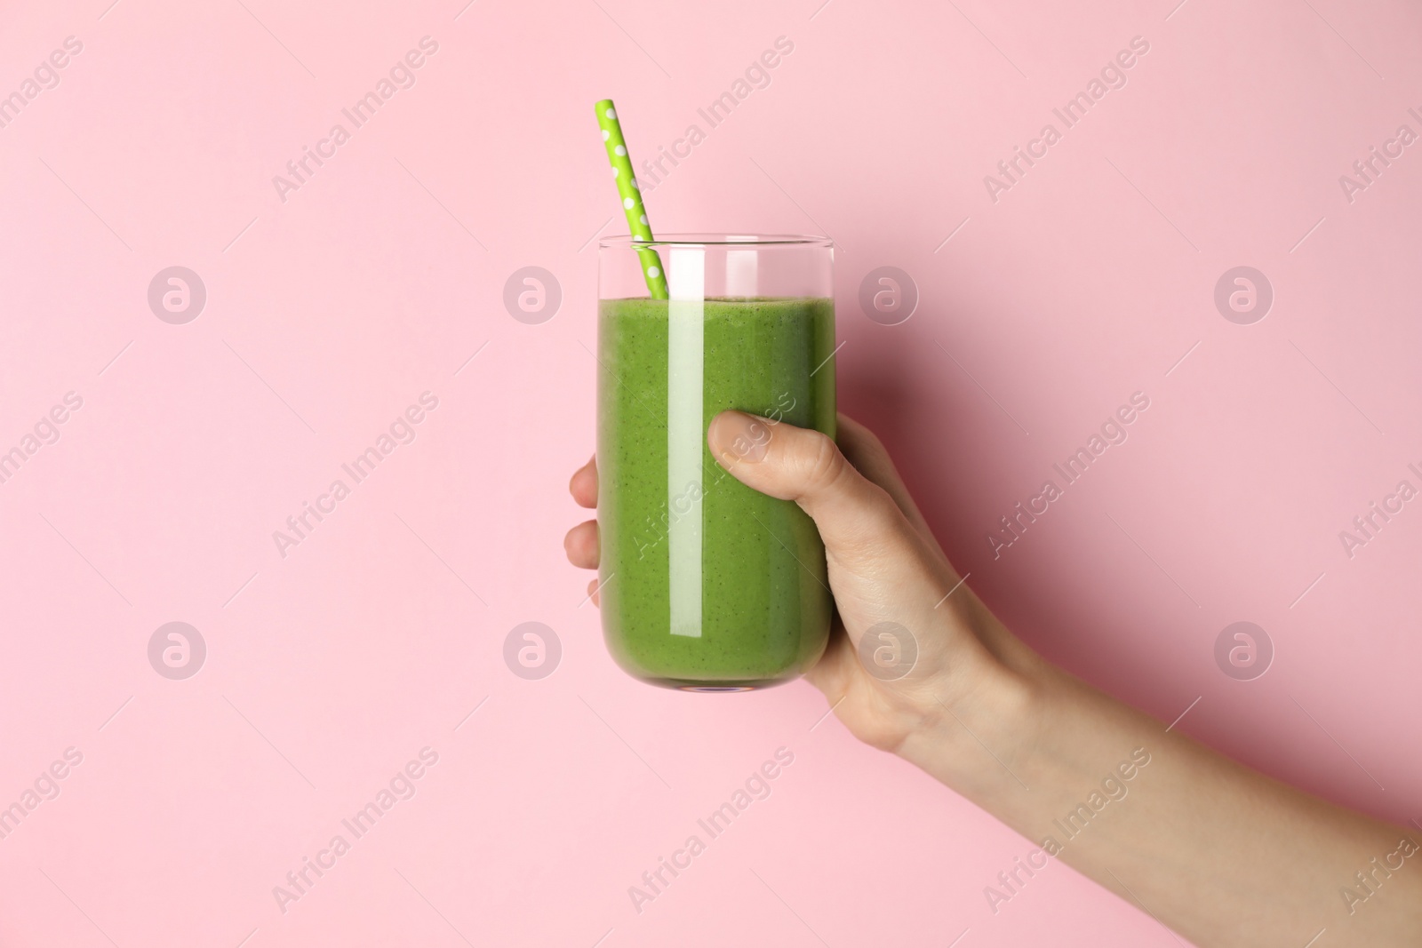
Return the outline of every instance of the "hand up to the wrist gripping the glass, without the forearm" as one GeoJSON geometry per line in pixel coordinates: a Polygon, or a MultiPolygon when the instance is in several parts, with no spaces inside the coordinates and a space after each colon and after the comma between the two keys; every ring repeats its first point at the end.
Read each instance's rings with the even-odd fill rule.
{"type": "MultiPolygon", "coordinates": [[[[1011,691],[1010,668],[1035,657],[954,571],[867,428],[840,415],[836,445],[816,431],[731,411],[712,419],[707,439],[732,476],[798,503],[819,529],[838,608],[825,655],[806,679],[852,733],[903,750],[927,722],[1011,691]],[[906,674],[873,664],[884,630],[912,638],[897,642],[912,661],[906,674]]],[[[580,506],[597,506],[596,459],[573,475],[569,489],[580,506]]],[[[565,547],[574,566],[596,569],[597,522],[573,527],[565,547]]],[[[594,603],[596,588],[596,580],[589,583],[594,603]]]]}

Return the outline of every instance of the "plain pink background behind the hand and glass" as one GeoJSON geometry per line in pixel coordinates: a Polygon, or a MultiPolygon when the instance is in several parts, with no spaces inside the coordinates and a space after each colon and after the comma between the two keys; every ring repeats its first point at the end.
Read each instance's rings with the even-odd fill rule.
{"type": "Polygon", "coordinates": [[[6,4],[0,94],[82,53],[0,129],[0,451],[84,404],[0,485],[0,806],[82,763],[0,840],[0,944],[1175,944],[1064,866],[994,915],[1031,843],[812,729],[805,684],[690,696],[611,664],[562,549],[593,237],[623,232],[604,95],[638,161],[708,132],[648,193],[660,230],[839,243],[843,408],[1018,634],[1163,722],[1199,698],[1176,726],[1268,773],[1422,816],[1422,506],[1352,559],[1338,539],[1422,486],[1422,145],[1351,203],[1338,183],[1422,132],[1422,14],[818,3],[6,4]],[[417,84],[280,200],[424,36],[417,84]],[[1136,36],[1126,87],[994,203],[984,175],[1136,36]],[[183,325],[146,303],[175,264],[208,291],[183,325]],[[1240,264],[1274,289],[1253,325],[1213,303],[1240,264]],[[542,324],[502,303],[525,266],[562,286],[542,324]],[[921,294],[900,325],[857,306],[879,266],[921,294]],[[279,556],[424,391],[414,443],[279,556]],[[998,517],[1135,391],[1129,441],[994,559],[998,517]],[[1254,681],[1213,657],[1241,620],[1276,650],[1254,681]],[[148,661],[169,621],[208,647],[183,681],[148,661]],[[562,641],[542,681],[502,659],[525,621],[562,641]],[[283,914],[273,887],[425,746],[418,793],[283,914]],[[627,887],[779,746],[772,796],[637,914],[627,887]]]}

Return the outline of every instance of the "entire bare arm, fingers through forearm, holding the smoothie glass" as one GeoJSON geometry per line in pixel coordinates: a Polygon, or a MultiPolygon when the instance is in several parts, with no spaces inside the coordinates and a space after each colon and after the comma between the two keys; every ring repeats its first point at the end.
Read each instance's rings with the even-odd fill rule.
{"type": "MultiPolygon", "coordinates": [[[[1249,770],[1045,662],[963,583],[866,428],[840,415],[836,446],[816,431],[722,412],[707,441],[738,480],[798,503],[825,540],[838,615],[805,677],[853,735],[1202,947],[1258,945],[1278,932],[1303,944],[1318,925],[1337,944],[1416,944],[1422,876],[1392,873],[1389,901],[1367,915],[1335,897],[1369,857],[1378,866],[1379,853],[1416,851],[1402,849],[1406,830],[1249,770]],[[903,627],[917,647],[902,678],[873,664],[880,623],[903,627]],[[1130,776],[1118,769],[1126,755],[1139,765],[1130,776]],[[1130,802],[1098,817],[1098,790],[1125,799],[1123,783],[1106,783],[1116,773],[1133,780],[1130,802]],[[1091,820],[1091,831],[1064,833],[1062,814],[1082,829],[1091,820]]],[[[596,506],[596,465],[570,486],[582,506],[596,506]]],[[[570,530],[566,547],[574,566],[596,567],[597,523],[570,530]]]]}

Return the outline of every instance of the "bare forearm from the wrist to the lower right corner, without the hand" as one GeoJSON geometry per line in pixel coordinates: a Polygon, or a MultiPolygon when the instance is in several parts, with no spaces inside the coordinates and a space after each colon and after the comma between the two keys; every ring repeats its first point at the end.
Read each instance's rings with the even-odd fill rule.
{"type": "MultiPolygon", "coordinates": [[[[1418,834],[1249,770],[1020,645],[997,651],[900,753],[1031,849],[1202,947],[1301,947],[1322,928],[1328,945],[1422,942],[1418,834]]],[[[988,881],[1012,897],[1027,870],[1004,870],[988,881]]]]}

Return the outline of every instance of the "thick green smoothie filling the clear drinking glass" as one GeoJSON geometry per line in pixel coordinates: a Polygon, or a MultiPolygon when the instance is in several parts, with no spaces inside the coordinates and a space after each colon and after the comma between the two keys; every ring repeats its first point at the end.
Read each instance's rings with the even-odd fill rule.
{"type": "MultiPolygon", "coordinates": [[[[673,688],[798,677],[829,634],[825,547],[793,502],[728,475],[705,432],[735,408],[835,435],[833,301],[603,300],[597,331],[609,651],[673,688]]],[[[775,438],[774,424],[764,436],[775,438]]]]}

